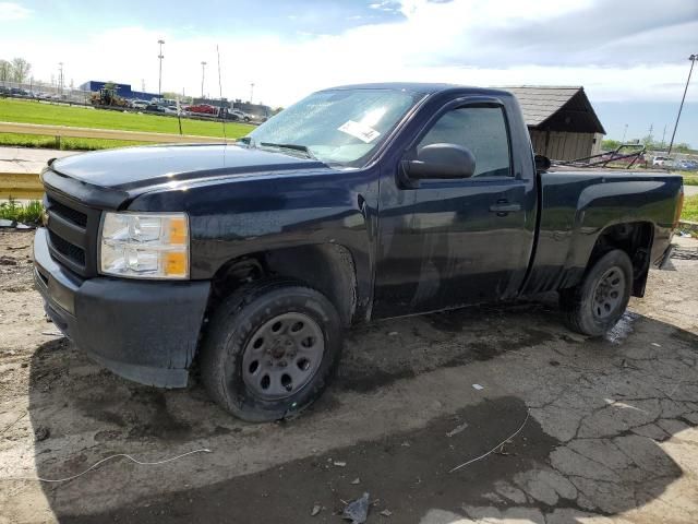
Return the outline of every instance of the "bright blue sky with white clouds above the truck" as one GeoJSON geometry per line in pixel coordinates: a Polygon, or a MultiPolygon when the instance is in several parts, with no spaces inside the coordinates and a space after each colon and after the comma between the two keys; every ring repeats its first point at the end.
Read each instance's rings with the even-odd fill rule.
{"type": "MultiPolygon", "coordinates": [[[[87,80],[288,106],[333,85],[582,85],[607,136],[661,140],[698,53],[698,0],[0,0],[0,58],[87,80]],[[219,88],[216,46],[220,51],[219,88]],[[625,126],[627,124],[627,132],[625,126]]],[[[677,142],[698,147],[698,67],[677,142]]],[[[666,140],[669,140],[669,136],[666,140]]]]}

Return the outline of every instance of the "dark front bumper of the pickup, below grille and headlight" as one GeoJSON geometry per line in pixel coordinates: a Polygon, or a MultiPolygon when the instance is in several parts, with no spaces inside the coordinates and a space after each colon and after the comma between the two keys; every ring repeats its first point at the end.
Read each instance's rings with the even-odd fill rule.
{"type": "Polygon", "coordinates": [[[47,314],[94,360],[142,384],[186,385],[207,281],[83,279],[51,258],[44,228],[34,239],[34,281],[47,314]]]}

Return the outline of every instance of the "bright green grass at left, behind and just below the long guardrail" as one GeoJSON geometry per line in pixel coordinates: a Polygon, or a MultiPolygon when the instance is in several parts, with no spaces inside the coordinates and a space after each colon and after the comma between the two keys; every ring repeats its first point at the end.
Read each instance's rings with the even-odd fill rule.
{"type": "MultiPolygon", "coordinates": [[[[179,134],[179,123],[174,117],[111,111],[81,106],[60,106],[36,100],[16,100],[10,98],[0,98],[0,121],[179,134]]],[[[237,139],[244,136],[253,129],[253,126],[246,123],[226,123],[226,134],[228,138],[237,139]]],[[[182,133],[218,138],[222,136],[222,126],[220,122],[215,121],[209,122],[182,118],[182,133]]],[[[96,150],[132,144],[134,144],[134,142],[61,139],[61,148],[71,150],[96,150]]],[[[0,133],[0,145],[56,147],[56,139],[52,136],[0,133]]]]}

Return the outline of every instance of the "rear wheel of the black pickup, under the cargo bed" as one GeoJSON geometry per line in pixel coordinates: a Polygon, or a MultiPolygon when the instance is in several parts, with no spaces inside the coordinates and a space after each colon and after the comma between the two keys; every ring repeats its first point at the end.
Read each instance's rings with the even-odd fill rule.
{"type": "Polygon", "coordinates": [[[631,288],[633,263],[629,257],[619,249],[609,251],[587,270],[581,284],[561,290],[559,305],[565,314],[565,323],[582,335],[602,336],[625,312],[631,288]],[[614,271],[618,273],[613,273],[614,271]],[[610,278],[612,284],[614,274],[619,282],[618,287],[607,291],[606,281],[610,278]],[[611,297],[609,293],[616,293],[617,297],[611,297]],[[607,300],[613,300],[613,306],[604,301],[604,298],[598,298],[604,294],[607,300]]]}

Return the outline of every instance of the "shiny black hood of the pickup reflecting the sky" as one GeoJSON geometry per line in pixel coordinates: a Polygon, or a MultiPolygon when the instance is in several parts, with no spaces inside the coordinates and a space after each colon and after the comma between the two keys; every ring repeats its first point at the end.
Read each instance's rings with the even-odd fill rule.
{"type": "Polygon", "coordinates": [[[91,186],[131,192],[197,179],[326,168],[318,160],[239,145],[156,145],[58,159],[50,169],[91,186]]]}

